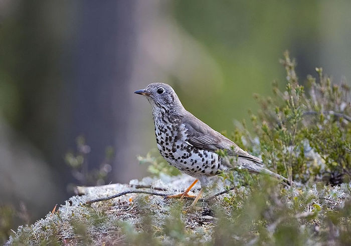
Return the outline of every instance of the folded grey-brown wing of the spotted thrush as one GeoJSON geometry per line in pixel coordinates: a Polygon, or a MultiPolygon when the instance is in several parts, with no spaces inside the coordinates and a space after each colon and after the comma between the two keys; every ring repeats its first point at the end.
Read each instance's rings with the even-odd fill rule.
{"type": "Polygon", "coordinates": [[[237,156],[262,165],[262,160],[260,158],[250,155],[233,141],[213,130],[191,113],[183,118],[183,123],[187,129],[186,134],[188,142],[191,145],[212,152],[223,150],[226,151],[229,156],[237,156]]]}

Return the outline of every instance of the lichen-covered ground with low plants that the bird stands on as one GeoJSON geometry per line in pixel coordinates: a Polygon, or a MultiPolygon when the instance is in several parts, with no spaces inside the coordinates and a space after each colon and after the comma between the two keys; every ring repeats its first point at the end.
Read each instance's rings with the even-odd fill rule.
{"type": "MultiPolygon", "coordinates": [[[[207,197],[232,185],[221,177],[212,181],[207,197]]],[[[32,225],[20,226],[7,245],[142,242],[188,245],[216,244],[224,238],[238,243],[250,240],[282,242],[286,236],[279,231],[290,227],[296,236],[303,234],[301,242],[307,243],[321,240],[325,233],[329,233],[327,221],[335,215],[338,225],[333,226],[338,226],[339,233],[335,240],[341,235],[347,236],[345,228],[351,222],[351,210],[346,198],[350,196],[351,184],[289,188],[262,176],[258,177],[257,185],[238,186],[211,202],[199,202],[198,208],[190,211],[185,211],[189,200],[165,200],[160,196],[133,193],[84,205],[88,200],[140,189],[135,188],[137,185],[150,186],[142,190],[157,188],[157,192],[177,193],[191,182],[192,178],[186,175],[164,175],[162,179],[147,177],[141,181],[131,180],[129,184],[81,188],[84,195],[69,198],[57,212],[48,213],[32,225]],[[316,224],[320,227],[319,234],[313,232],[316,224]],[[304,227],[300,228],[302,225],[304,227]]],[[[198,190],[199,186],[195,186],[195,193],[198,190]]]]}

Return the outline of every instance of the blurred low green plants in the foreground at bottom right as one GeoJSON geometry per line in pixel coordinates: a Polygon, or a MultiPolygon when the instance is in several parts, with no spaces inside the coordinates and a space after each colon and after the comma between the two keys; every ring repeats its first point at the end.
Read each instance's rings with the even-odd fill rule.
{"type": "MultiPolygon", "coordinates": [[[[151,204],[138,202],[141,222],[122,223],[131,245],[309,245],[347,244],[351,240],[349,185],[321,184],[302,189],[281,189],[277,180],[258,176],[224,199],[207,204],[216,220],[204,224],[199,212],[184,212],[172,202],[160,216],[151,204]],[[348,199],[344,200],[345,197],[348,199]],[[313,242],[313,243],[312,243],[313,242]]],[[[164,209],[164,208],[162,208],[164,209]]]]}

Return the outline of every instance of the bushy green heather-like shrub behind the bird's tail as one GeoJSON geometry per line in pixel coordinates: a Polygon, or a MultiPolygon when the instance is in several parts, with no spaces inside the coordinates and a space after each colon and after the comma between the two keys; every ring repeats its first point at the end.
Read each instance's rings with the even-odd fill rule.
{"type": "Polygon", "coordinates": [[[284,53],[281,63],[286,70],[285,90],[274,83],[273,97],[255,95],[261,106],[258,115],[251,113],[257,138],[249,133],[244,122],[234,133],[234,140],[245,149],[258,146],[256,154],[261,154],[263,162],[290,180],[307,182],[324,177],[331,184],[349,180],[349,87],[345,82],[332,84],[318,68],[318,82],[308,76],[309,93],[306,93],[298,82],[296,63],[290,60],[288,52],[284,53]]]}

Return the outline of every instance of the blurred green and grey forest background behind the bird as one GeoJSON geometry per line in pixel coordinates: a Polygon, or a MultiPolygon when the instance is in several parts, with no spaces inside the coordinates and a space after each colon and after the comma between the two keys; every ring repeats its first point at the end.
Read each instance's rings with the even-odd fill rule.
{"type": "Polygon", "coordinates": [[[350,11],[326,0],[0,1],[0,205],[25,206],[33,222],[63,203],[77,183],[64,157],[80,135],[87,170],[113,147],[104,182],[145,176],[136,156],[156,145],[133,92],[149,82],[231,132],[257,109],[253,93],[284,86],[284,50],[302,79],[315,67],[351,78],[350,11]]]}

